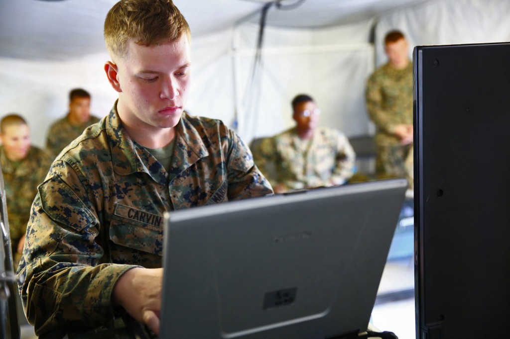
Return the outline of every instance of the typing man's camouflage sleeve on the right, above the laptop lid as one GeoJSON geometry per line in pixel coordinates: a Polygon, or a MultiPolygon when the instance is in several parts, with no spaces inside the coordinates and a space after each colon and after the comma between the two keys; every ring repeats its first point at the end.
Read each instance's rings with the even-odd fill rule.
{"type": "Polygon", "coordinates": [[[269,181],[253,162],[253,156],[241,138],[230,132],[227,154],[228,200],[273,194],[269,181]]]}

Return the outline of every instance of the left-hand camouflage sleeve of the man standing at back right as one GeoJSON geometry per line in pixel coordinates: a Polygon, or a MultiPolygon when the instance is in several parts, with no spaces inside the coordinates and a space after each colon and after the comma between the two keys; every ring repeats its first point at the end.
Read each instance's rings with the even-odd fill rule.
{"type": "Polygon", "coordinates": [[[385,110],[380,82],[374,74],[368,79],[365,95],[370,119],[379,130],[393,134],[395,126],[391,123],[390,116],[385,110]]]}

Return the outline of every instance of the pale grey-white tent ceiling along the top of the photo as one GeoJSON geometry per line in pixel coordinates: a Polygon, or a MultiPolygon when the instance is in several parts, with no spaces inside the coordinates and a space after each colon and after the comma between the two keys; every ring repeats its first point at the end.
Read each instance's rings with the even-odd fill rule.
{"type": "MultiPolygon", "coordinates": [[[[233,27],[268,0],[174,0],[193,36],[233,27]]],[[[272,9],[269,25],[318,27],[350,23],[429,0],[305,0],[293,10],[272,9]]],[[[0,56],[25,60],[66,60],[104,52],[103,23],[117,0],[2,0],[0,56]]],[[[283,0],[291,6],[297,0],[283,0]]],[[[258,15],[252,16],[256,22],[258,15]]]]}

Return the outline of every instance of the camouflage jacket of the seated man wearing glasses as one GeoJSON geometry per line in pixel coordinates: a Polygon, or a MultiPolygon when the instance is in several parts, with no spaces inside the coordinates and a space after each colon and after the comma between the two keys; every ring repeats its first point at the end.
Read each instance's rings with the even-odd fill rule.
{"type": "Polygon", "coordinates": [[[262,141],[254,160],[273,187],[286,190],[341,185],[351,176],[355,154],[340,131],[317,128],[312,139],[303,140],[291,128],[262,141]],[[271,177],[268,166],[274,166],[271,177]]]}

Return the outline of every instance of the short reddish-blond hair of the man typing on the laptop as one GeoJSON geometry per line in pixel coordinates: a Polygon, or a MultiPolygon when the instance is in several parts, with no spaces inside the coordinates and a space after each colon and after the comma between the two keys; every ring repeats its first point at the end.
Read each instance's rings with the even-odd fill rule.
{"type": "Polygon", "coordinates": [[[113,57],[127,55],[127,41],[142,46],[172,43],[191,33],[188,22],[172,0],[121,0],[105,20],[105,43],[113,57]]]}

